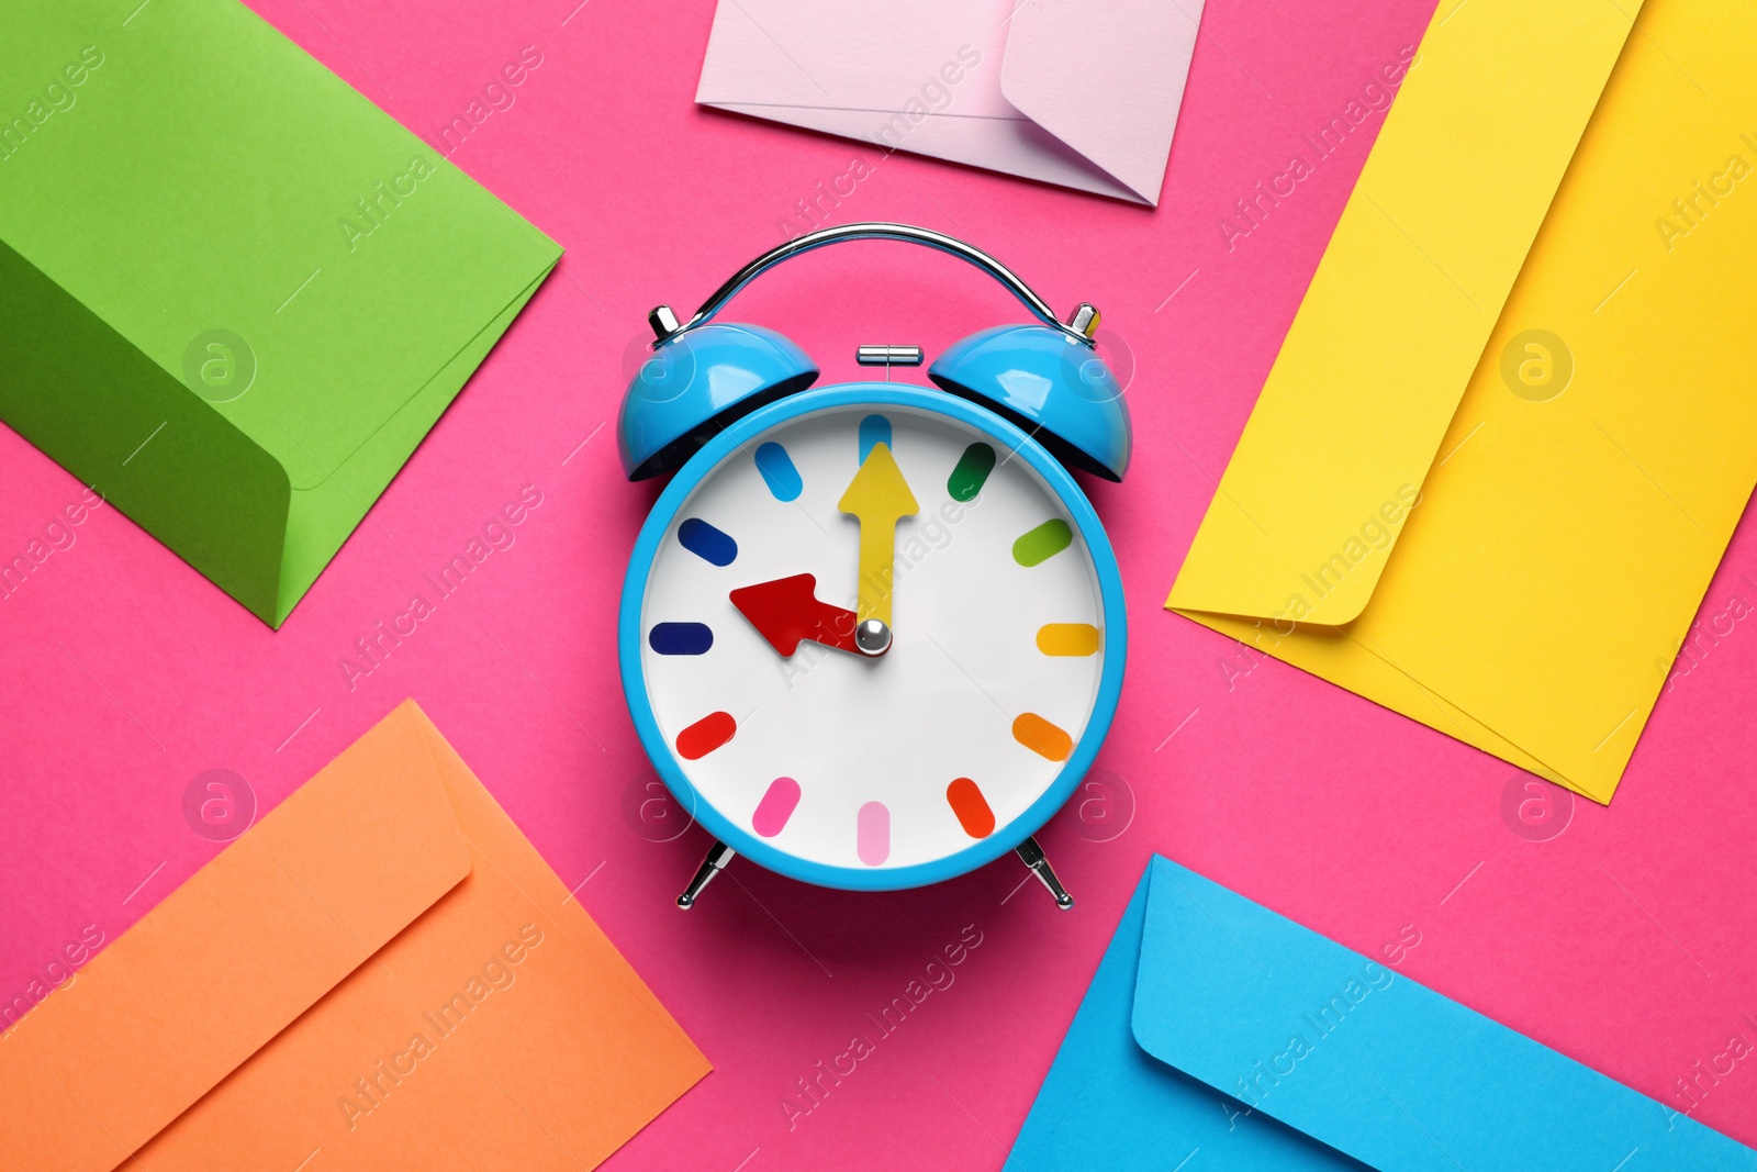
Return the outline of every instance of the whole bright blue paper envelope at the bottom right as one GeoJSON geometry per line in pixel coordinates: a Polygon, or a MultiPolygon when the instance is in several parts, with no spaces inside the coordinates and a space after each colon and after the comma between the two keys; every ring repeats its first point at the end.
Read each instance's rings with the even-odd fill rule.
{"type": "Polygon", "coordinates": [[[1717,1172],[1757,1153],[1154,856],[1009,1172],[1717,1172]]]}

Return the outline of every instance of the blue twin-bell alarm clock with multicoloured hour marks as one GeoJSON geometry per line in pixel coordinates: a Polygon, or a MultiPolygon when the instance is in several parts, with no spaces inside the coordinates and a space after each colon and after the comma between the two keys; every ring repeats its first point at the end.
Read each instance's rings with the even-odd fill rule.
{"type": "Polygon", "coordinates": [[[715,843],[689,908],[738,854],[884,891],[1016,852],[1074,900],[1031,835],[1091,766],[1123,685],[1110,541],[1074,471],[1121,481],[1132,429],[1096,353],[954,237],[824,228],[757,257],[689,320],[648,315],[618,416],[631,480],[669,476],[629,557],[617,643],[641,747],[715,843]],[[1033,322],[972,334],[891,381],[915,346],[861,346],[886,381],[813,387],[785,336],[717,320],[773,265],[847,241],[935,248],[1033,322]]]}

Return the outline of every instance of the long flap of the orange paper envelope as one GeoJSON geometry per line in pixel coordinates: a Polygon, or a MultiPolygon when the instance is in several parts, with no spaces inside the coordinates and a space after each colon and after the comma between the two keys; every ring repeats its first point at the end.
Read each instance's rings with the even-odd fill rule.
{"type": "Polygon", "coordinates": [[[121,1165],[467,873],[406,703],[5,1037],[0,1165],[121,1165]]]}

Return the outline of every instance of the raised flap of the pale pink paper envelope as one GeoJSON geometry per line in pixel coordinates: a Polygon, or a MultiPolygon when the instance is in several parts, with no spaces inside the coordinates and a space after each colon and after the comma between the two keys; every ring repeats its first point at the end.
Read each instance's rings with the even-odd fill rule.
{"type": "Polygon", "coordinates": [[[1202,0],[1012,5],[1001,93],[1158,204],[1200,19],[1202,0]]]}

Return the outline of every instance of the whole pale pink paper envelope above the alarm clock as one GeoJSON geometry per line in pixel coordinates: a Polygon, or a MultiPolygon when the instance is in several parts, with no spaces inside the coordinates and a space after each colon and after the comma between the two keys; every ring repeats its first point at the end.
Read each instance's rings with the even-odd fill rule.
{"type": "Polygon", "coordinates": [[[1158,204],[1200,19],[1202,0],[722,0],[696,102],[1158,204]]]}

